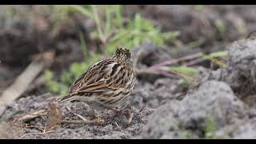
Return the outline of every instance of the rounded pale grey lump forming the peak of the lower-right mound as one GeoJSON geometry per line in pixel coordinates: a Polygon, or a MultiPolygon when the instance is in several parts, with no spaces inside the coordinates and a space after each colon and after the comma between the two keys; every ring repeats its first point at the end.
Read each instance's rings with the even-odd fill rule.
{"type": "Polygon", "coordinates": [[[203,128],[207,118],[214,117],[218,126],[243,115],[244,108],[224,82],[203,83],[197,91],[186,95],[179,109],[179,118],[186,128],[203,128]]]}

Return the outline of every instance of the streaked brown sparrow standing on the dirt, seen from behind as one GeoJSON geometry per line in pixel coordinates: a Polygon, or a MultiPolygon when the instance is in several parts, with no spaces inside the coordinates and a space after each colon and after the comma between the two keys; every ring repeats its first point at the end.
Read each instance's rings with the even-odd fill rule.
{"type": "Polygon", "coordinates": [[[122,104],[134,89],[135,74],[130,50],[118,48],[111,58],[95,62],[78,77],[70,93],[58,102],[78,100],[93,110],[112,109],[122,104]]]}

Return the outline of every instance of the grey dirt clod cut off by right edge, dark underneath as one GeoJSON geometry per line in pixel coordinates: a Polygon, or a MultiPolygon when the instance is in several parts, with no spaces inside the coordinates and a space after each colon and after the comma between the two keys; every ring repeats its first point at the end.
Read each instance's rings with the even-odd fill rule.
{"type": "Polygon", "coordinates": [[[228,83],[243,100],[256,94],[256,40],[234,42],[229,50],[229,66],[211,72],[208,79],[228,83]]]}

